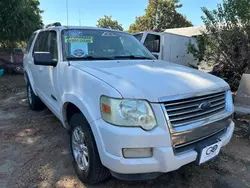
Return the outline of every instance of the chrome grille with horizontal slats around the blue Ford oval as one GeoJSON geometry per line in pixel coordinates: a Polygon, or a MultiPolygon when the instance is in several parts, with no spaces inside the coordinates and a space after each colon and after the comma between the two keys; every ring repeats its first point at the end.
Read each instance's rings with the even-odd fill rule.
{"type": "Polygon", "coordinates": [[[164,106],[172,127],[179,127],[206,119],[224,111],[226,105],[225,96],[225,91],[222,91],[209,95],[164,102],[164,106]],[[210,106],[208,109],[200,108],[200,105],[203,103],[209,103],[210,106]]]}

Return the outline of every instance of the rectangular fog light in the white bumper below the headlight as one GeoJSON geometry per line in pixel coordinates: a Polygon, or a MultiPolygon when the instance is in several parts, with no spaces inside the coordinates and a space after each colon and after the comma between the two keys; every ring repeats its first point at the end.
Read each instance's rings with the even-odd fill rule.
{"type": "Polygon", "coordinates": [[[153,156],[152,148],[124,148],[124,158],[148,158],[153,156]]]}

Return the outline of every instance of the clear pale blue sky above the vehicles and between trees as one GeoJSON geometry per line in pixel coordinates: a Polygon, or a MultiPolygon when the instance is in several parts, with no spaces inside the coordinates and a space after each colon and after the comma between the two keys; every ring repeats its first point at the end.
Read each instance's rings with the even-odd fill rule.
{"type": "MultiPolygon", "coordinates": [[[[67,0],[40,0],[43,23],[61,22],[67,25],[67,0]]],[[[68,0],[69,25],[95,26],[97,20],[104,15],[118,20],[125,30],[135,22],[136,16],[145,13],[148,0],[68,0]]],[[[183,7],[178,12],[192,21],[193,25],[202,25],[201,7],[216,8],[221,0],[180,0],[183,7]]]]}

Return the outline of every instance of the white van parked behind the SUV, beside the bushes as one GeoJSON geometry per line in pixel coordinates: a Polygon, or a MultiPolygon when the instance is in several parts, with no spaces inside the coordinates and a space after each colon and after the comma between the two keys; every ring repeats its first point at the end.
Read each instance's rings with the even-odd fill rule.
{"type": "Polygon", "coordinates": [[[198,68],[198,60],[187,53],[187,44],[196,44],[204,27],[166,29],[162,33],[145,31],[133,34],[159,60],[198,68]]]}

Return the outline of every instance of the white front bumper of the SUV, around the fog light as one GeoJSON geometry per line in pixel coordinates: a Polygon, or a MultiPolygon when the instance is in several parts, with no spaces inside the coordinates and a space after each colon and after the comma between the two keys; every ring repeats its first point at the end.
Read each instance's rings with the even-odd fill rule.
{"type": "MultiPolygon", "coordinates": [[[[158,121],[158,123],[161,123],[158,121]]],[[[163,122],[162,122],[163,123],[163,122]]],[[[140,128],[122,128],[107,124],[102,119],[92,122],[97,127],[99,137],[97,146],[101,162],[115,173],[141,174],[153,172],[170,172],[196,160],[198,153],[195,150],[176,154],[171,144],[170,133],[161,127],[147,132],[140,128]],[[152,147],[151,158],[126,159],[122,155],[123,148],[152,147]]],[[[234,131],[234,122],[219,136],[222,146],[231,139],[234,131]]]]}

